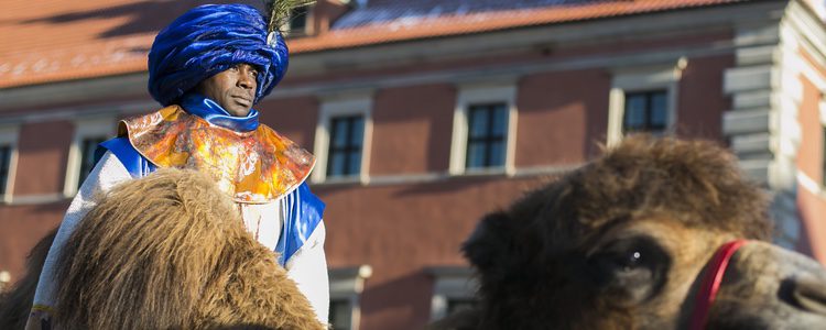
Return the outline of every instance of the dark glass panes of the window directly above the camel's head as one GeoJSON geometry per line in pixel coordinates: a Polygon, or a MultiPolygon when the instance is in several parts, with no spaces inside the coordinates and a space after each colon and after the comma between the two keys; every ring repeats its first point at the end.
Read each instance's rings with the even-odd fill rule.
{"type": "Polygon", "coordinates": [[[665,131],[669,123],[669,100],[665,90],[629,92],[626,95],[626,111],[622,132],[665,131]]]}

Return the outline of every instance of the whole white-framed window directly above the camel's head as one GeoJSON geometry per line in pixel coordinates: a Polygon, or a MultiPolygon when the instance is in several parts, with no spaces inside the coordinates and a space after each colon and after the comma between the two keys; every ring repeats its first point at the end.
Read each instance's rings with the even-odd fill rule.
{"type": "Polygon", "coordinates": [[[676,123],[677,87],[687,61],[613,72],[608,105],[608,145],[628,133],[669,134],[676,123]]]}

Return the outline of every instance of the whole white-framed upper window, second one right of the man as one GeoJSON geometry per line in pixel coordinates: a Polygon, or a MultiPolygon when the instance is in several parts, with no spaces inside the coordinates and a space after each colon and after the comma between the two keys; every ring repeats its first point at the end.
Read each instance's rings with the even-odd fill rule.
{"type": "Polygon", "coordinates": [[[450,174],[513,173],[515,94],[513,84],[459,87],[450,174]]]}

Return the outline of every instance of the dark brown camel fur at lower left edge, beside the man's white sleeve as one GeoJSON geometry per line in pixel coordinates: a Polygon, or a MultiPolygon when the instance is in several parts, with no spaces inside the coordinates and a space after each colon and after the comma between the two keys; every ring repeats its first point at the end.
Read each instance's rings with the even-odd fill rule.
{"type": "Polygon", "coordinates": [[[57,229],[47,233],[37,242],[25,261],[25,275],[7,293],[0,295],[0,329],[23,329],[29,319],[29,311],[34,301],[34,289],[37,288],[40,272],[46,261],[48,248],[57,234],[57,229]]]}

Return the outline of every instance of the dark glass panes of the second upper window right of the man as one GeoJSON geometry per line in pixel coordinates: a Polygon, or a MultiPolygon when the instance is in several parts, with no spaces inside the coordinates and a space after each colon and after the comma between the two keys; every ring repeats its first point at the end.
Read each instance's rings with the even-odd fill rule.
{"type": "Polygon", "coordinates": [[[504,165],[508,110],[504,103],[475,105],[468,109],[467,168],[504,165]]]}

